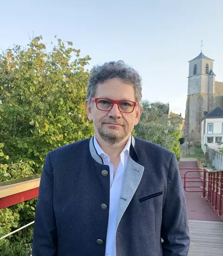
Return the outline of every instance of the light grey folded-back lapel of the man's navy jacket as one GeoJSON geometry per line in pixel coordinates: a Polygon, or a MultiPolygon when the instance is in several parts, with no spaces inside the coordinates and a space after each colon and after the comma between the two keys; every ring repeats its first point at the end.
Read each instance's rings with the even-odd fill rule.
{"type": "Polygon", "coordinates": [[[144,166],[137,164],[130,156],[128,158],[128,163],[126,167],[125,176],[122,182],[122,192],[119,200],[119,207],[116,220],[116,231],[119,225],[122,215],[124,214],[128,204],[132,200],[133,195],[137,187],[139,186],[140,180],[142,179],[142,174],[144,171],[144,166]]]}

